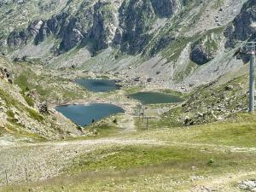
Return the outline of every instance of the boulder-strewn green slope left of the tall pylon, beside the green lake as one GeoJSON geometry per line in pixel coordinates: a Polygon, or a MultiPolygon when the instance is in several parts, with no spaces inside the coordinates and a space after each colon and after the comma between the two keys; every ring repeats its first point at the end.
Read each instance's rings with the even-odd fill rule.
{"type": "Polygon", "coordinates": [[[218,81],[203,85],[191,92],[189,100],[165,113],[170,125],[200,125],[222,121],[235,113],[247,112],[247,77],[225,84],[218,81]]]}

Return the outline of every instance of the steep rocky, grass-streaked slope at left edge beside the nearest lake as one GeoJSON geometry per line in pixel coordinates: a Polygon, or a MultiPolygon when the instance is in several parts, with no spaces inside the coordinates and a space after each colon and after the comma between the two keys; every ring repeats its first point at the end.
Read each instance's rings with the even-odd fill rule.
{"type": "Polygon", "coordinates": [[[36,90],[21,90],[14,84],[14,68],[11,61],[0,58],[0,136],[5,138],[0,143],[13,137],[32,141],[84,134],[70,120],[49,109],[36,90]]]}

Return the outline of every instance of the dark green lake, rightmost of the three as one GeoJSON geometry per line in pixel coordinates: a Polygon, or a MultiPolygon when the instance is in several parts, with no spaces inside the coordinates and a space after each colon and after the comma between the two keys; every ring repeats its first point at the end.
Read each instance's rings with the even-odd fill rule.
{"type": "Polygon", "coordinates": [[[130,95],[131,98],[136,99],[145,104],[158,104],[158,103],[175,103],[183,102],[183,99],[179,96],[172,96],[159,92],[139,92],[130,95]]]}

